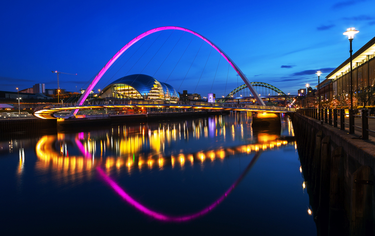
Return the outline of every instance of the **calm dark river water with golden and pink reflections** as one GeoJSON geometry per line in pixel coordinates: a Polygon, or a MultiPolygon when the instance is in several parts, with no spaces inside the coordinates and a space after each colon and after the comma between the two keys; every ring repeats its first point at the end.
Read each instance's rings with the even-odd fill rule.
{"type": "Polygon", "coordinates": [[[3,138],[2,235],[316,235],[288,118],[3,138]]]}

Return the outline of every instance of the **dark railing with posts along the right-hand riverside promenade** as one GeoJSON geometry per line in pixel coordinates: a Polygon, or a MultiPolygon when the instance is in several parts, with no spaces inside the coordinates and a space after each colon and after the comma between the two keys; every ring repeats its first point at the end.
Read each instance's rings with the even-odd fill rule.
{"type": "Polygon", "coordinates": [[[361,126],[355,125],[353,122],[353,129],[358,128],[362,131],[362,139],[368,140],[368,133],[372,132],[375,133],[375,130],[371,130],[368,128],[369,119],[375,119],[375,116],[369,116],[368,115],[368,109],[362,109],[360,115],[354,115],[352,112],[349,112],[348,109],[315,109],[315,108],[309,108],[309,109],[298,109],[298,112],[312,117],[313,119],[321,121],[321,124],[329,124],[332,125],[333,121],[333,127],[337,127],[337,124],[340,123],[340,129],[345,130],[345,125],[349,126],[350,124],[345,122],[345,117],[348,117],[349,120],[353,119],[354,117],[360,117],[361,118],[361,126]],[[333,115],[333,119],[332,119],[333,115]]]}

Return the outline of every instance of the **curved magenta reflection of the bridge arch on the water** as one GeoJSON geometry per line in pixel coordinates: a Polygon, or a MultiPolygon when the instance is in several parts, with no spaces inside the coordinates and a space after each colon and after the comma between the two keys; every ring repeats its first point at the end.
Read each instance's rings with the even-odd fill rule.
{"type": "MultiPolygon", "coordinates": [[[[76,143],[78,148],[81,150],[81,152],[85,155],[86,158],[90,158],[90,153],[88,153],[85,148],[83,147],[82,143],[76,139],[76,143]]],[[[160,221],[166,221],[166,222],[183,222],[183,221],[190,221],[195,218],[201,217],[204,214],[207,214],[211,210],[213,210],[215,207],[217,207],[224,199],[227,198],[227,196],[236,188],[236,186],[241,182],[241,180],[246,176],[246,174],[249,172],[249,170],[253,167],[255,162],[258,160],[261,152],[256,152],[253,159],[249,163],[249,165],[246,167],[246,169],[243,171],[243,173],[239,176],[239,178],[234,182],[234,184],[226,191],[223,195],[220,196],[219,199],[217,199],[215,202],[213,202],[208,207],[204,208],[203,210],[188,214],[188,215],[182,215],[182,216],[171,216],[166,215],[157,211],[153,211],[151,209],[148,209],[147,207],[143,206],[141,203],[137,202],[135,199],[133,199],[129,194],[125,192],[112,178],[110,178],[103,169],[98,166],[97,171],[99,172],[100,176],[106,182],[115,192],[117,192],[123,200],[125,200],[130,205],[134,206],[137,210],[141,211],[142,213],[149,215],[150,217],[160,220],[160,221]]]]}

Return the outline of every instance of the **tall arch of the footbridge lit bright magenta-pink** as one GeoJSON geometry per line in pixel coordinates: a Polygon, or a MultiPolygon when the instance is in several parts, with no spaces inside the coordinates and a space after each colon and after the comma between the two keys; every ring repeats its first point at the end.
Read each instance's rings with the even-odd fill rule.
{"type": "MultiPolygon", "coordinates": [[[[204,42],[208,43],[209,45],[211,45],[211,47],[213,47],[216,51],[218,51],[222,57],[225,58],[225,60],[227,60],[229,62],[229,64],[235,69],[235,71],[238,73],[238,75],[242,78],[243,82],[245,82],[245,84],[248,86],[248,88],[250,89],[250,91],[254,94],[256,100],[258,101],[259,104],[265,106],[263,100],[261,100],[260,96],[258,96],[258,93],[256,92],[255,88],[251,85],[250,81],[248,80],[248,78],[246,77],[245,74],[243,74],[243,72],[238,68],[238,66],[231,60],[231,58],[229,58],[229,56],[224,53],[219,47],[217,47],[213,42],[211,42],[208,38],[205,38],[203,37],[202,35],[198,34],[197,32],[193,31],[193,30],[189,30],[189,29],[186,29],[186,28],[182,28],[182,27],[177,27],[177,26],[164,26],[164,27],[158,27],[158,28],[155,28],[155,29],[152,29],[152,30],[148,30],[140,35],[138,35],[137,37],[133,38],[133,40],[131,40],[129,43],[127,43],[124,47],[122,47],[108,62],[107,64],[105,64],[105,66],[99,71],[99,73],[95,76],[95,78],[93,78],[93,80],[91,81],[90,85],[87,87],[87,89],[85,90],[85,92],[82,94],[82,96],[80,97],[80,99],[78,100],[78,105],[82,105],[84,103],[84,101],[86,100],[87,96],[89,95],[90,91],[93,89],[93,87],[95,87],[95,85],[99,82],[99,80],[101,79],[101,77],[104,75],[104,73],[109,69],[109,67],[114,64],[114,62],[121,56],[122,53],[124,53],[128,48],[130,48],[130,46],[132,46],[133,44],[137,43],[139,40],[141,40],[141,38],[149,35],[149,34],[152,34],[152,33],[155,33],[155,32],[158,32],[158,31],[162,31],[162,30],[181,30],[181,31],[185,31],[185,32],[188,32],[188,33],[191,33],[191,34],[194,34],[198,37],[200,37],[204,42]]],[[[77,114],[79,109],[76,109],[76,110],[72,110],[71,113],[69,114],[69,116],[72,116],[72,115],[75,115],[77,114]]]]}

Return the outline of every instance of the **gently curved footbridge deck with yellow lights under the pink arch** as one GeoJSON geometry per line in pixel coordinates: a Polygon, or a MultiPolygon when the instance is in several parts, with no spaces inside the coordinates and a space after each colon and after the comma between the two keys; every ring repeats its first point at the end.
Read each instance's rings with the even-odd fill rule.
{"type": "MultiPolygon", "coordinates": [[[[178,111],[179,109],[194,109],[194,110],[231,110],[231,111],[254,111],[267,113],[286,113],[295,112],[295,108],[275,107],[275,106],[257,106],[247,104],[233,104],[233,103],[207,103],[207,102],[178,102],[172,103],[169,101],[87,101],[83,105],[70,104],[50,104],[42,107],[37,107],[33,113],[36,117],[41,119],[57,119],[54,113],[71,110],[87,110],[87,109],[101,109],[101,108],[170,108],[178,111]]],[[[67,118],[67,117],[66,117],[67,118]]]]}

